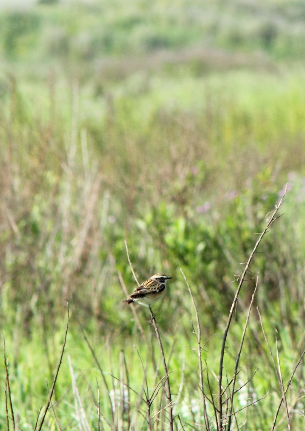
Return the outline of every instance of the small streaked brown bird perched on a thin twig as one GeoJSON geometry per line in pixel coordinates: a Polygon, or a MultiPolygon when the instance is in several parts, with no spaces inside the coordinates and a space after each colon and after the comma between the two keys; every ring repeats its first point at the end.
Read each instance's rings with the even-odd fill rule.
{"type": "Polygon", "coordinates": [[[173,277],[168,277],[161,273],[152,275],[151,278],[144,281],[144,283],[137,287],[135,291],[130,294],[129,298],[123,302],[131,304],[136,301],[145,307],[149,307],[151,304],[164,297],[166,282],[170,280],[170,278],[173,277]]]}

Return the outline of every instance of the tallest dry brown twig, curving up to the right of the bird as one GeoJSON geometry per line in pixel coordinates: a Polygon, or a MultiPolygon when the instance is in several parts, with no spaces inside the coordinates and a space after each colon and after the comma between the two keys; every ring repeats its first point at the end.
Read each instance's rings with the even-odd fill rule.
{"type": "Polygon", "coordinates": [[[284,199],[284,197],[286,195],[287,188],[288,188],[288,184],[286,184],[283,196],[281,197],[279,203],[277,203],[277,205],[275,206],[274,211],[272,212],[272,214],[270,215],[270,217],[268,217],[268,219],[267,219],[267,225],[264,228],[264,230],[261,232],[261,234],[260,234],[258,240],[256,241],[256,244],[255,244],[255,246],[254,246],[254,248],[253,248],[253,250],[252,250],[252,252],[251,252],[251,254],[250,254],[249,258],[248,258],[248,261],[247,261],[247,263],[245,265],[245,269],[244,269],[244,271],[242,272],[242,275],[239,278],[239,284],[238,284],[238,287],[237,287],[237,290],[236,290],[236,293],[235,293],[235,296],[234,296],[234,299],[233,299],[233,302],[232,302],[232,306],[231,306],[231,309],[230,309],[230,312],[229,312],[229,316],[228,316],[228,319],[227,319],[227,322],[226,322],[226,328],[224,330],[223,341],[222,341],[221,351],[220,351],[219,379],[218,379],[218,410],[219,410],[219,415],[218,415],[219,421],[218,422],[219,422],[219,430],[220,431],[224,430],[224,428],[223,428],[222,378],[223,378],[223,359],[224,359],[224,351],[225,351],[225,347],[226,347],[226,338],[228,336],[228,332],[229,332],[229,328],[230,328],[230,325],[231,325],[233,313],[234,313],[234,310],[235,310],[235,307],[236,307],[236,303],[237,303],[237,300],[238,300],[238,297],[239,297],[239,292],[240,292],[240,290],[242,288],[243,282],[245,281],[245,275],[248,272],[248,268],[250,266],[250,263],[252,262],[252,258],[254,256],[254,254],[255,254],[255,252],[256,252],[259,244],[261,243],[261,240],[263,239],[264,235],[266,234],[266,232],[268,231],[268,229],[270,228],[270,226],[279,217],[279,216],[277,216],[277,211],[279,210],[280,206],[283,203],[283,199],[284,199]]]}

